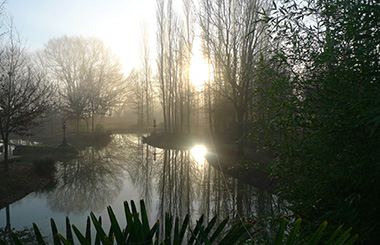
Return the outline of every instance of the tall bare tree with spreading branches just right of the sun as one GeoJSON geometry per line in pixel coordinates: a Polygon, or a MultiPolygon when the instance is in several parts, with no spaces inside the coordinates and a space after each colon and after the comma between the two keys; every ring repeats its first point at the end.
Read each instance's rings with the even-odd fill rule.
{"type": "MultiPolygon", "coordinates": [[[[253,101],[255,74],[252,68],[268,45],[265,25],[258,22],[265,0],[203,0],[200,26],[206,54],[214,70],[213,90],[222,95],[235,110],[236,131],[244,137],[243,122],[248,119],[253,101]]],[[[239,140],[243,153],[243,140],[239,140]]]]}

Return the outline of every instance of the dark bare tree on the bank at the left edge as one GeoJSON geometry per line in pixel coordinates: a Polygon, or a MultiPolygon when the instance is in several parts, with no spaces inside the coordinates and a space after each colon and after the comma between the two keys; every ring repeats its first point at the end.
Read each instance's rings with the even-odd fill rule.
{"type": "Polygon", "coordinates": [[[8,172],[9,134],[27,134],[50,107],[51,85],[28,59],[12,25],[0,52],[0,134],[8,172]]]}

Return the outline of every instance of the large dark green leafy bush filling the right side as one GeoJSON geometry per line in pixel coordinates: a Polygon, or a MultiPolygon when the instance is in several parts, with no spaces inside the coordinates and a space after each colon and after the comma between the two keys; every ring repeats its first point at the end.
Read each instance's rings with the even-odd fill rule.
{"type": "Polygon", "coordinates": [[[255,108],[293,212],[311,226],[348,224],[364,241],[380,239],[379,10],[348,0],[275,6],[265,21],[278,45],[258,69],[255,108]]]}

